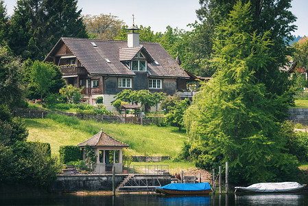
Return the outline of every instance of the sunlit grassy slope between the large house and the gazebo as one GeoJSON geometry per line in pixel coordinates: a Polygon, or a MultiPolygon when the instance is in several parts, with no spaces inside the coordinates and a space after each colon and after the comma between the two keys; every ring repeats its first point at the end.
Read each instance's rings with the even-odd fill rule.
{"type": "MultiPolygon", "coordinates": [[[[60,116],[60,115],[59,115],[60,116]]],[[[58,155],[62,145],[76,145],[98,133],[100,128],[112,137],[130,145],[127,155],[167,155],[175,157],[187,139],[175,127],[107,124],[72,117],[25,119],[28,141],[43,141],[58,155]]]]}

